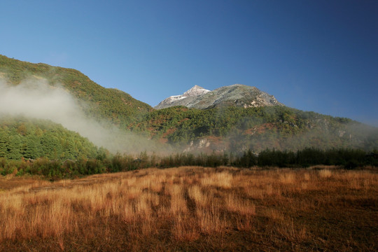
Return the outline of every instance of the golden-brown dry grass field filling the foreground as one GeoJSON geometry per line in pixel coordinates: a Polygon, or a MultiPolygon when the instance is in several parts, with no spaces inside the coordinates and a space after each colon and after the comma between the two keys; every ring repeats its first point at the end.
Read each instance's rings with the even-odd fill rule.
{"type": "Polygon", "coordinates": [[[378,251],[377,170],[0,179],[0,251],[378,251]]]}

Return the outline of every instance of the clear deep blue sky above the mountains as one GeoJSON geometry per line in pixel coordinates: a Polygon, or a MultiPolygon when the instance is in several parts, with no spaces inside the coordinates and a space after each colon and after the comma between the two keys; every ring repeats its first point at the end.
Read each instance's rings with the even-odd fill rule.
{"type": "Polygon", "coordinates": [[[376,0],[2,0],[0,54],[157,105],[241,83],[378,126],[376,0]]]}

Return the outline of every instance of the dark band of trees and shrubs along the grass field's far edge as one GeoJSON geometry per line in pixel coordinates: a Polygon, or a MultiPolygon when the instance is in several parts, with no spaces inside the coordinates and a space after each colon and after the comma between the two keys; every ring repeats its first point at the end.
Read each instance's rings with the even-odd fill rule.
{"type": "Polygon", "coordinates": [[[7,160],[0,158],[0,174],[31,174],[57,180],[75,178],[90,174],[111,172],[125,172],[134,169],[158,167],[309,167],[314,165],[336,165],[345,169],[358,167],[378,166],[378,151],[367,153],[353,149],[330,149],[321,151],[315,148],[305,148],[301,151],[265,150],[260,155],[246,151],[243,155],[235,156],[232,153],[217,155],[193,153],[176,153],[159,157],[147,155],[107,155],[99,150],[96,158],[78,158],[77,160],[49,160],[38,158],[36,160],[7,160]]]}

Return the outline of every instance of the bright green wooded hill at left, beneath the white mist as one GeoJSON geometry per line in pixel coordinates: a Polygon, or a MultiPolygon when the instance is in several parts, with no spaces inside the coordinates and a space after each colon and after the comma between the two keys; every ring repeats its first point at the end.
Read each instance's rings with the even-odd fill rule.
{"type": "Polygon", "coordinates": [[[90,141],[51,121],[0,117],[0,158],[76,160],[96,155],[97,147],[90,141]]]}

